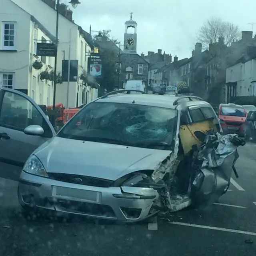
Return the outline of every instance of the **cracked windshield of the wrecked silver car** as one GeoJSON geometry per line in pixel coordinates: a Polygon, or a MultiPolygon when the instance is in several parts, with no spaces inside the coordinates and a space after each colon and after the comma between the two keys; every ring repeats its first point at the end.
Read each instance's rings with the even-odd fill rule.
{"type": "Polygon", "coordinates": [[[58,137],[142,148],[170,149],[177,110],[136,104],[92,102],[58,137]]]}

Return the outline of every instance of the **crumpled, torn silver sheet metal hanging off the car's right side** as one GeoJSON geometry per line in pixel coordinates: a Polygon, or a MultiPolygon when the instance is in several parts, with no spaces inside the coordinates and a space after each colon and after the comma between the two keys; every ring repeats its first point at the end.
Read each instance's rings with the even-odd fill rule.
{"type": "Polygon", "coordinates": [[[209,131],[201,145],[195,165],[195,176],[191,186],[192,204],[213,204],[226,192],[230,184],[232,169],[238,159],[238,146],[245,141],[237,134],[221,135],[209,131]]]}

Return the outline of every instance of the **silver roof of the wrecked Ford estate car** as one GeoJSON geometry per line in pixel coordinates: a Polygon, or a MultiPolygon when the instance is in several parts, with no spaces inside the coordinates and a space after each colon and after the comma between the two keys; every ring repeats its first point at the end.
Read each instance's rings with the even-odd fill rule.
{"type": "MultiPolygon", "coordinates": [[[[164,95],[158,94],[112,94],[106,98],[98,98],[97,102],[113,102],[113,103],[125,103],[131,104],[133,101],[138,105],[145,106],[156,106],[162,108],[176,108],[177,105],[173,105],[174,101],[180,97],[174,95],[168,95],[168,97],[164,97],[164,95]]],[[[183,101],[182,104],[186,104],[186,106],[194,106],[194,105],[208,105],[211,106],[208,102],[203,100],[193,100],[193,101],[183,101]]]]}

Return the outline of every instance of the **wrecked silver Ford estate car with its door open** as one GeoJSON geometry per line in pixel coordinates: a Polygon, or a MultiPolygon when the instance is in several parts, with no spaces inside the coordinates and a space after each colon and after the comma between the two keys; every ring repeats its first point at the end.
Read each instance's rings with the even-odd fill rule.
{"type": "Polygon", "coordinates": [[[210,104],[127,91],[87,104],[55,134],[31,98],[0,90],[0,148],[19,149],[0,161],[23,166],[24,210],[134,222],[213,203],[227,190],[244,142],[220,134],[210,104]]]}

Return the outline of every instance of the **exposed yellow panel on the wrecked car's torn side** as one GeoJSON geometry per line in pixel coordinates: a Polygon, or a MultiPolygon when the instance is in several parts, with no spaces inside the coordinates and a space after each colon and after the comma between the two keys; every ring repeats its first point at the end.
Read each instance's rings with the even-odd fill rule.
{"type": "Polygon", "coordinates": [[[194,132],[200,131],[206,134],[208,130],[214,129],[217,130],[216,125],[213,120],[205,120],[201,122],[195,122],[192,124],[186,124],[180,126],[180,140],[184,150],[184,154],[187,154],[193,145],[197,145],[197,148],[200,148],[202,142],[196,138],[194,132]]]}

